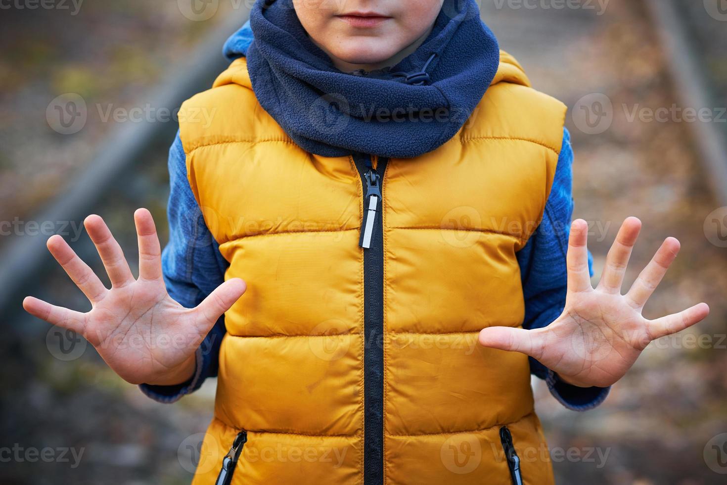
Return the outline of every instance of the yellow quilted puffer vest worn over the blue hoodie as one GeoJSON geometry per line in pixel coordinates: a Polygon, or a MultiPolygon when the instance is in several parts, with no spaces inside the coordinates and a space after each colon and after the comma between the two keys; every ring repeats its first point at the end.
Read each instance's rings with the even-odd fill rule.
{"type": "Polygon", "coordinates": [[[465,126],[414,159],[303,151],[244,58],[183,109],[190,186],[226,277],[248,285],[225,314],[193,483],[224,463],[246,485],[552,484],[528,358],[477,339],[522,324],[515,253],[541,220],[565,106],[502,52],[465,126]],[[383,197],[364,207],[367,175],[383,197]]]}

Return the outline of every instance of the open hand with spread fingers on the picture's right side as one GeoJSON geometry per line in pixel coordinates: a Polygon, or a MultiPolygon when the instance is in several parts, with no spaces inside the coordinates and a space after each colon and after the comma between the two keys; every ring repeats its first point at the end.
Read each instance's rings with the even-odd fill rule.
{"type": "Polygon", "coordinates": [[[606,387],[626,374],[652,340],[701,321],[710,313],[706,303],[655,320],[641,316],[646,300],[679,251],[679,241],[674,238],[662,243],[627,294],[621,294],[640,228],[636,217],[624,220],[606,257],[601,281],[593,289],[587,262],[588,225],[585,220],[575,220],[566,257],[568,293],[561,316],[542,329],[483,329],[481,345],[525,353],[573,385],[606,387]]]}

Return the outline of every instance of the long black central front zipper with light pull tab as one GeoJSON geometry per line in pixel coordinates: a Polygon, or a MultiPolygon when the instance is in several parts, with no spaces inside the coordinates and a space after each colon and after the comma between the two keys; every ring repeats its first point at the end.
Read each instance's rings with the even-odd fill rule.
{"type": "Polygon", "coordinates": [[[354,153],[364,188],[364,485],[384,483],[384,226],[387,159],[354,153]]]}

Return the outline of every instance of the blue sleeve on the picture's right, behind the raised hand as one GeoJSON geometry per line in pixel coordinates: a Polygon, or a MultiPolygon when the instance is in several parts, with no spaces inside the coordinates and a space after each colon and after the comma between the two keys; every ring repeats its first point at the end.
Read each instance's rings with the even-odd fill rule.
{"type": "MultiPolygon", "coordinates": [[[[518,252],[525,320],[523,328],[539,329],[563,313],[566,302],[568,273],[566,252],[574,201],[572,196],[573,148],[571,136],[563,130],[563,146],[555,168],[553,188],[545,204],[545,212],[537,231],[518,252]]],[[[593,255],[588,252],[588,270],[593,276],[593,255]]],[[[586,411],[606,399],[611,388],[579,388],[568,384],[543,364],[530,358],[531,372],[544,379],[550,393],[568,409],[586,411]]]]}

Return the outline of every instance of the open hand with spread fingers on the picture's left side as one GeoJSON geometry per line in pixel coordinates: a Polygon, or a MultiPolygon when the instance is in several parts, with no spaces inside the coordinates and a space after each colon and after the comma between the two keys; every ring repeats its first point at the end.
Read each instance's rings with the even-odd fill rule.
{"type": "Polygon", "coordinates": [[[111,369],[132,384],[174,385],[192,377],[195,353],[222,313],[245,292],[232,278],[217,287],[197,308],[184,308],[166,292],[161,275],[161,247],[151,214],[134,212],[139,240],[139,278],[134,279],[103,219],[89,215],[84,226],[111,279],[107,289],[98,276],[58,235],[48,249],[92,309],[81,313],[25,297],[23,308],[51,324],[83,335],[111,369]]]}

